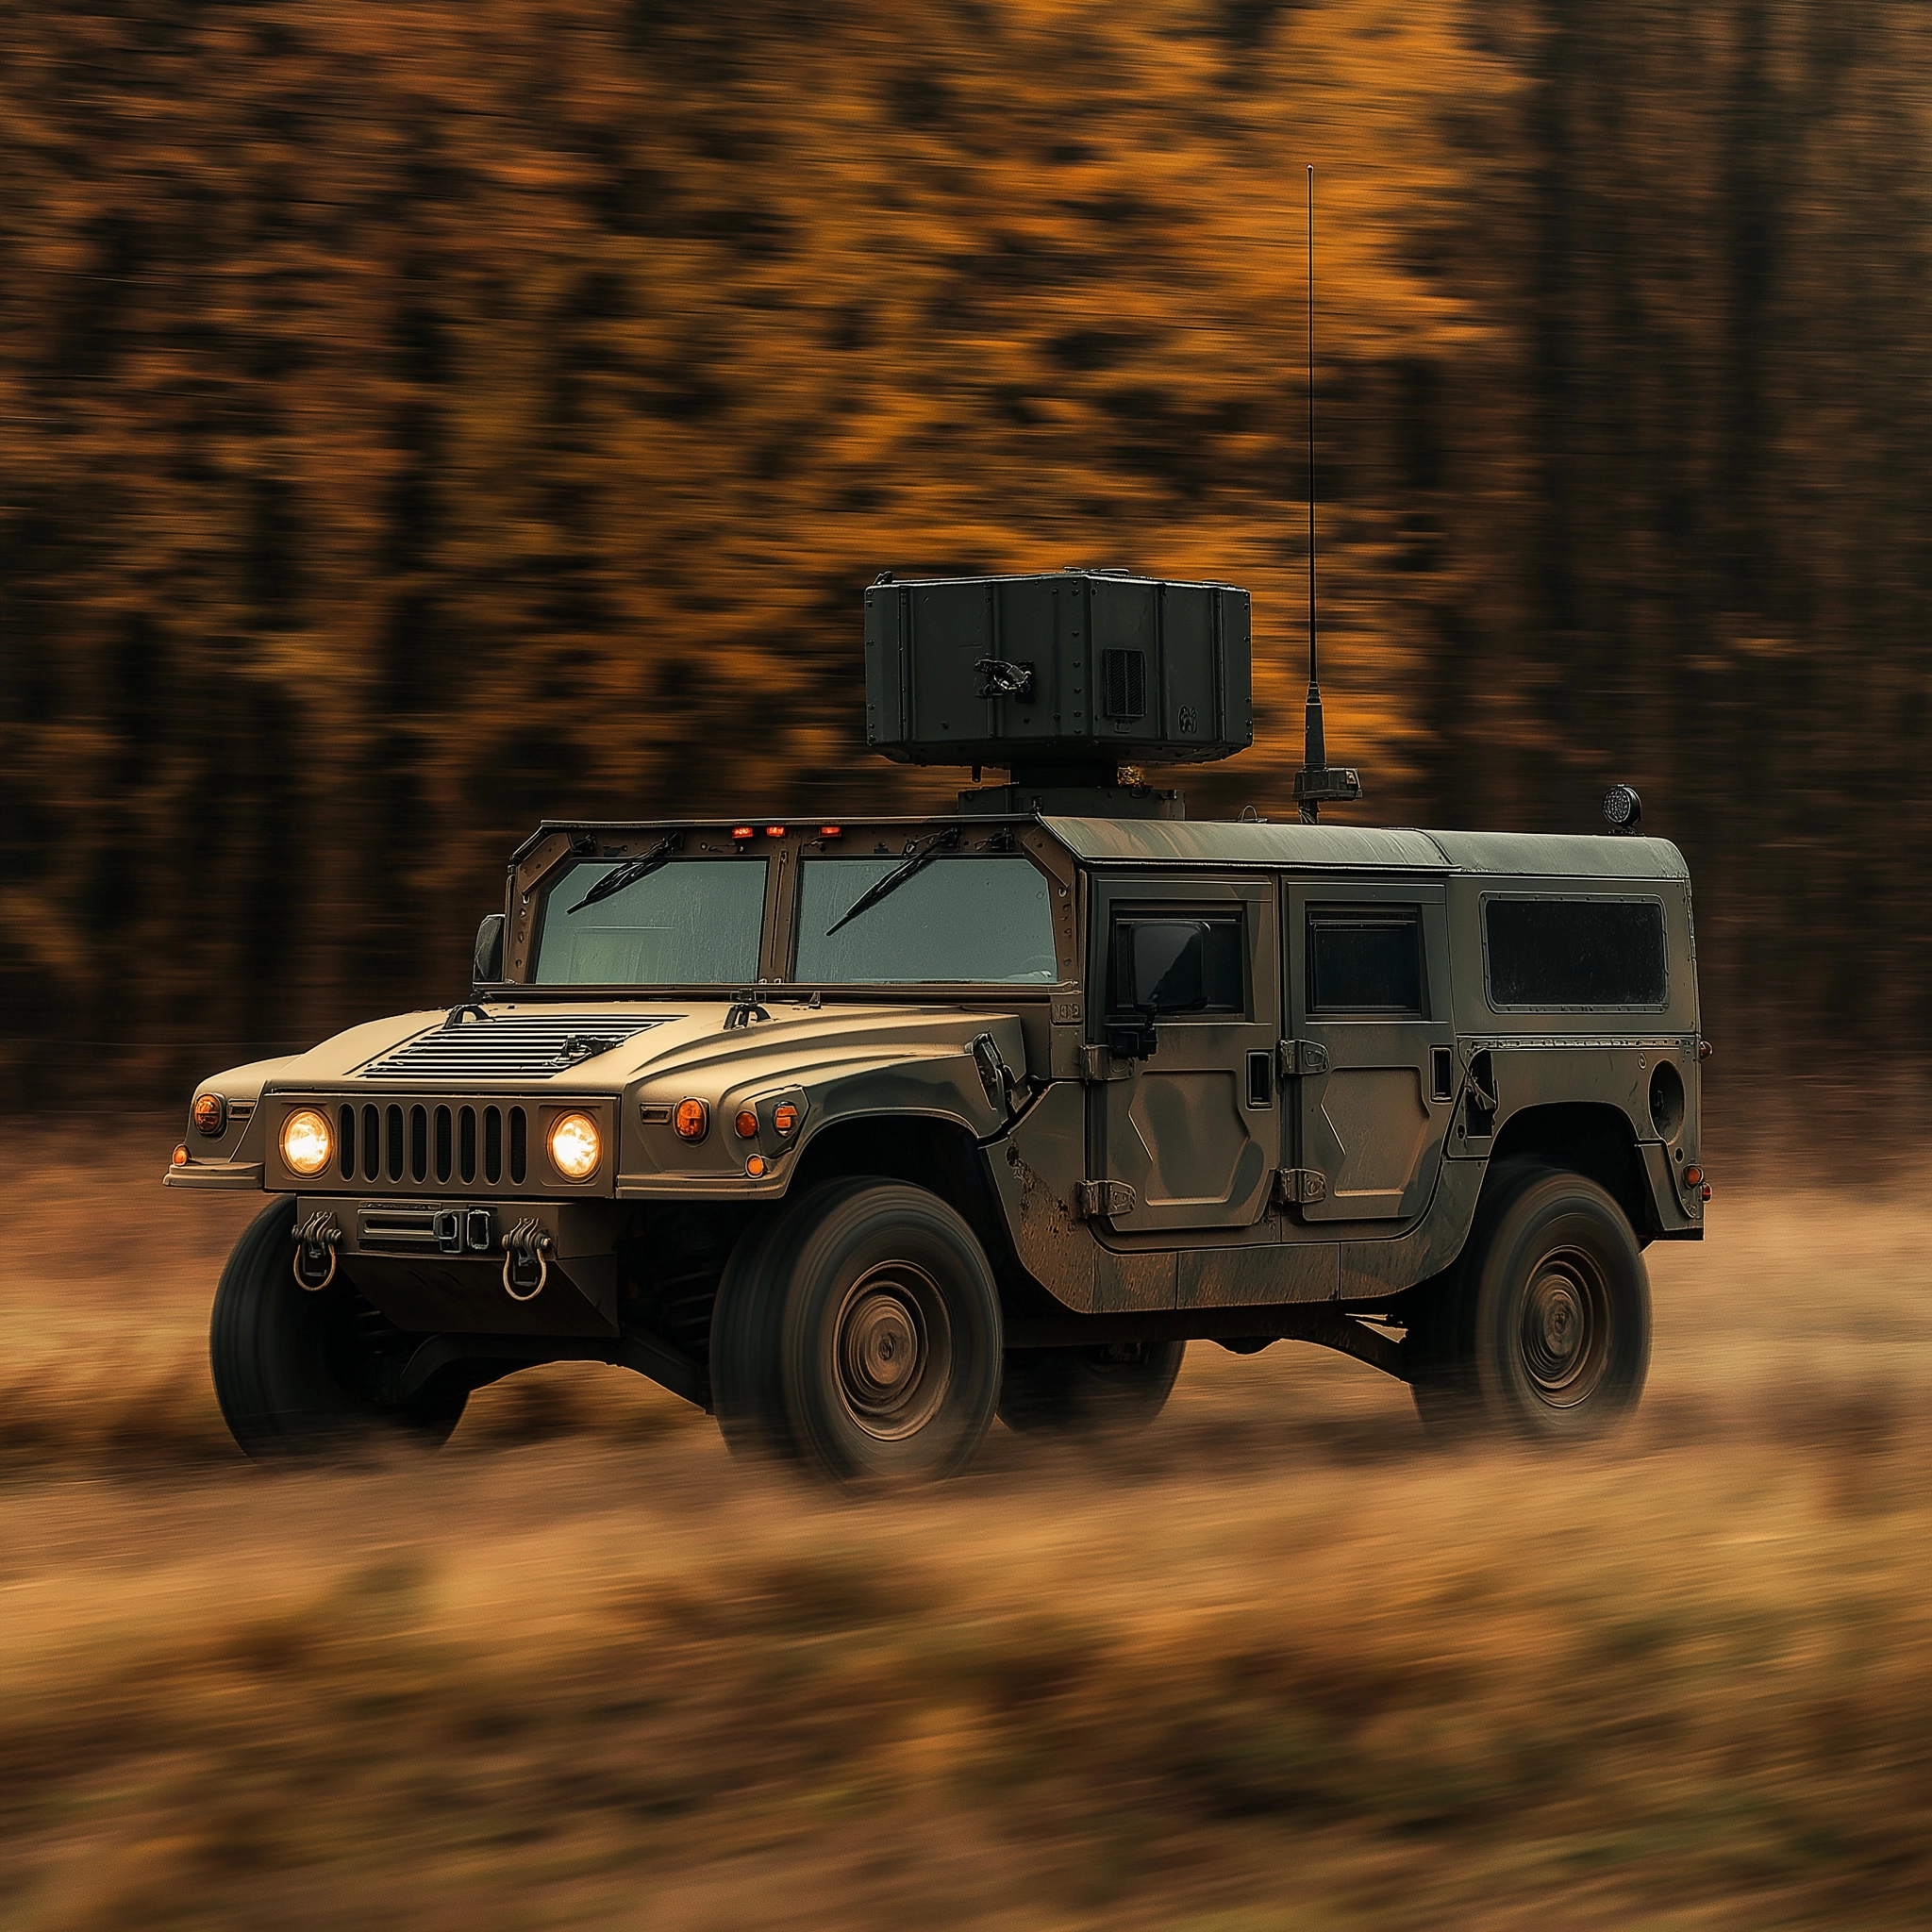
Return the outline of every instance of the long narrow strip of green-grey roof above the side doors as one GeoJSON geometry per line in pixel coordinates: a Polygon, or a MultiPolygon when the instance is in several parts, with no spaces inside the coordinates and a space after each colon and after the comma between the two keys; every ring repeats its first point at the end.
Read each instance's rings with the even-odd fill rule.
{"type": "Polygon", "coordinates": [[[1258,825],[1244,819],[1043,817],[1090,864],[1312,866],[1478,871],[1551,879],[1689,879],[1667,838],[1588,833],[1426,833],[1381,825],[1258,825]]]}

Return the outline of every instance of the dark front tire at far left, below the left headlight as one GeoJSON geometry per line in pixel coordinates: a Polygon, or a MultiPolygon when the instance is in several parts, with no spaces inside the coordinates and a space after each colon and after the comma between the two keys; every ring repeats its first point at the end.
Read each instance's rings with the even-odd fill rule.
{"type": "Polygon", "coordinates": [[[466,1389],[392,1406],[363,1387],[355,1293],[340,1277],[296,1285],[296,1196],[282,1194],[236,1242],[209,1321],[209,1368],[228,1434],[257,1463],[346,1453],[375,1443],[440,1449],[469,1403],[466,1389]]]}

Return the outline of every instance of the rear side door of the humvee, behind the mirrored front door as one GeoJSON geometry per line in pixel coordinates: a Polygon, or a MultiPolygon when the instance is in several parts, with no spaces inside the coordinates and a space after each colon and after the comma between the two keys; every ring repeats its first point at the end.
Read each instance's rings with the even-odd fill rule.
{"type": "Polygon", "coordinates": [[[1287,1194],[1302,1221],[1408,1221],[1428,1206],[1455,1099],[1439,885],[1289,885],[1287,1194]]]}

